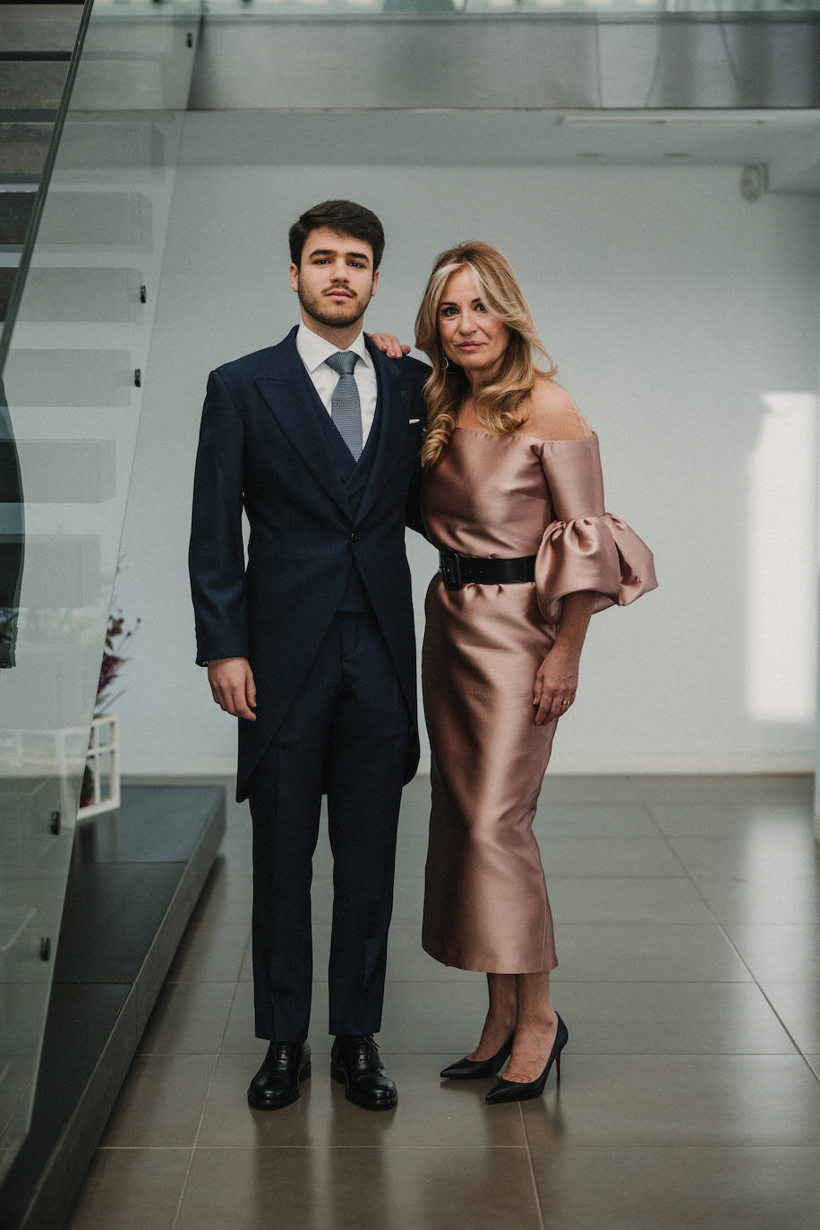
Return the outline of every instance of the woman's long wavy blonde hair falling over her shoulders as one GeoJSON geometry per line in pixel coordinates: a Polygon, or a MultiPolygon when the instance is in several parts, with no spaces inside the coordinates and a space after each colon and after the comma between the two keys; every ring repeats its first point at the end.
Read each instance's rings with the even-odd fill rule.
{"type": "Polygon", "coordinates": [[[470,381],[456,363],[447,365],[439,341],[439,304],[447,278],[467,268],[476,283],[476,292],[484,306],[510,331],[510,339],[498,375],[476,395],[476,416],[489,430],[505,434],[522,427],[526,416],[519,407],[531,392],[538,375],[536,352],[550,365],[543,373],[552,376],[558,370],[536,332],[530,309],[513,269],[502,253],[482,244],[465,240],[436,256],[422,305],[416,317],[416,344],[424,351],[433,371],[424,385],[427,430],[422,445],[422,466],[428,470],[446,450],[456,422],[459,407],[470,391],[470,381]]]}

